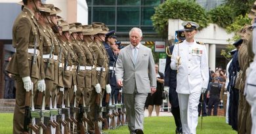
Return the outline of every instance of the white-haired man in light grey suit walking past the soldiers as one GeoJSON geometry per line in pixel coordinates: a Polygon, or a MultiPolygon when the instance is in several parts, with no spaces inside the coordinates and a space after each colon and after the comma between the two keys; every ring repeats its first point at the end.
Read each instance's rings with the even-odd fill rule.
{"type": "Polygon", "coordinates": [[[142,31],[133,27],[130,44],[121,49],[116,62],[117,86],[123,87],[131,134],[143,133],[144,104],[148,93],[156,92],[156,73],[151,49],[142,45],[142,31]]]}

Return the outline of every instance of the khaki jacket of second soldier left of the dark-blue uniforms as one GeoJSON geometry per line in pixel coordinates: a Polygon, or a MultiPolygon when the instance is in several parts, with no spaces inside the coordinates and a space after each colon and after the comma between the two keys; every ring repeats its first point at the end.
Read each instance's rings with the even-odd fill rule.
{"type": "Polygon", "coordinates": [[[83,42],[82,44],[83,50],[85,51],[85,57],[86,57],[86,66],[91,67],[91,70],[85,71],[85,86],[86,88],[91,88],[92,86],[95,86],[98,83],[98,80],[96,78],[96,57],[95,52],[93,51],[93,48],[91,48],[90,44],[86,44],[83,42]]]}

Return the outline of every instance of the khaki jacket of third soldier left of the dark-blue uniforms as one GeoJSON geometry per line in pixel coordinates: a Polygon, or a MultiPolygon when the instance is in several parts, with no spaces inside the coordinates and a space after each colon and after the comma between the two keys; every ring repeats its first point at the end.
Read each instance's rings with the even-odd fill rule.
{"type": "Polygon", "coordinates": [[[76,75],[76,80],[77,80],[77,86],[81,88],[85,88],[85,52],[83,51],[83,46],[81,46],[80,41],[72,41],[72,45],[74,48],[74,52],[77,56],[77,75],[76,75]],[[80,66],[80,67],[79,67],[80,66]],[[81,68],[84,67],[84,70],[81,68]]]}

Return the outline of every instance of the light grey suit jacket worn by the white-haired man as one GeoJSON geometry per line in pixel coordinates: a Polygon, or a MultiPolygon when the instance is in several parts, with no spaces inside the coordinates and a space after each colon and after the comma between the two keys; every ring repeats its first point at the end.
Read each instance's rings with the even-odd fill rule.
{"type": "Polygon", "coordinates": [[[137,62],[133,61],[131,44],[121,49],[116,62],[116,80],[123,79],[123,93],[150,93],[156,87],[156,72],[151,49],[139,44],[137,62]]]}

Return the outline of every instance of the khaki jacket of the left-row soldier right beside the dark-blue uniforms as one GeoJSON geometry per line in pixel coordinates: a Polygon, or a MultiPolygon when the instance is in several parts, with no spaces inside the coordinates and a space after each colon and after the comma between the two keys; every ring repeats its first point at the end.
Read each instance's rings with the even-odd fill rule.
{"type": "Polygon", "coordinates": [[[104,67],[105,71],[102,71],[100,75],[100,71],[97,71],[97,78],[100,83],[100,87],[102,89],[106,88],[107,80],[106,80],[106,72],[108,72],[108,54],[102,44],[102,42],[93,42],[92,44],[93,51],[95,52],[96,57],[96,67],[104,67]]]}

